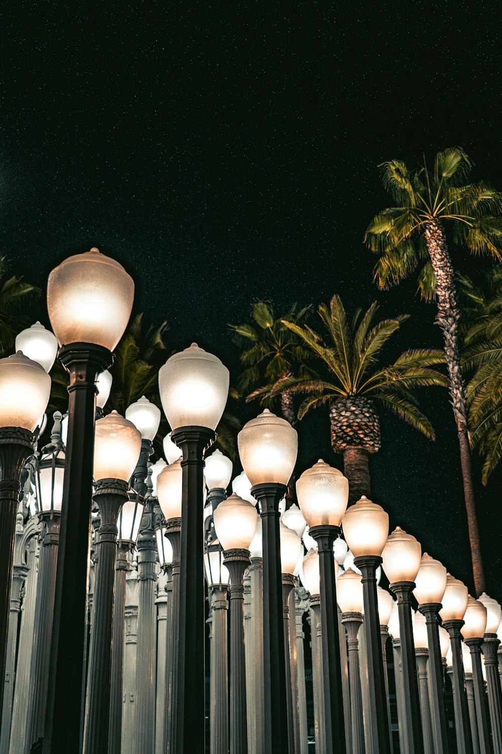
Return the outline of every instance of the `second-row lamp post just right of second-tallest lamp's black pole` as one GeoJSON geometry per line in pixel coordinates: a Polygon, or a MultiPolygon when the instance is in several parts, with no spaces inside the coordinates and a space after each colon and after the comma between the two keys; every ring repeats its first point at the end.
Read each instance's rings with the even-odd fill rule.
{"type": "Polygon", "coordinates": [[[214,510],[214,530],[230,573],[230,751],[248,752],[244,650],[244,572],[257,527],[254,505],[233,493],[214,510]]]}

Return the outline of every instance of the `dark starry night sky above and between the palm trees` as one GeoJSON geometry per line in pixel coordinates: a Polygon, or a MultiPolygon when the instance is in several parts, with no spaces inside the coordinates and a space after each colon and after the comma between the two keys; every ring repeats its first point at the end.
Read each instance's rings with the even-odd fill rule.
{"type": "MultiPolygon", "coordinates": [[[[135,308],[236,374],[228,322],[377,298],[412,314],[397,348],[441,345],[414,281],[379,293],[362,238],[388,205],[377,164],[460,145],[502,187],[494,4],[8,2],[0,137],[2,252],[44,287],[69,253],[110,253],[135,308]]],[[[455,265],[485,262],[452,251],[455,265]]],[[[41,317],[46,316],[41,305],[41,317]]],[[[470,584],[458,446],[446,393],[424,396],[436,443],[382,418],[373,498],[391,525],[470,584]]],[[[330,450],[304,421],[300,470],[330,450]]],[[[502,600],[500,480],[481,489],[488,592],[502,600]]],[[[471,584],[470,584],[471,585],[471,584]]]]}

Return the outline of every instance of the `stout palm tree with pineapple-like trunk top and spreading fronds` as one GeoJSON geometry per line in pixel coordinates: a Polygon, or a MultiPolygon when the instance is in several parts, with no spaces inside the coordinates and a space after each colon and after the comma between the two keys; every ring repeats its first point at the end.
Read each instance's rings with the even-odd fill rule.
{"type": "Polygon", "coordinates": [[[319,307],[327,341],[309,326],[284,320],[318,360],[323,374],[315,378],[287,377],[270,391],[272,397],[284,389],[307,394],[299,419],[309,409],[329,406],[331,446],[343,455],[349,504],[361,495],[370,495],[369,457],[382,444],[377,407],[389,409],[434,440],[431,422],[418,409],[415,388],[449,384],[446,375],[433,369],[444,363],[442,351],[404,351],[394,363],[379,364],[385,343],[408,317],[401,314],[394,319],[376,320],[377,311],[378,305],[373,302],[364,314],[359,308],[348,321],[341,299],[333,296],[329,307],[319,307]]]}

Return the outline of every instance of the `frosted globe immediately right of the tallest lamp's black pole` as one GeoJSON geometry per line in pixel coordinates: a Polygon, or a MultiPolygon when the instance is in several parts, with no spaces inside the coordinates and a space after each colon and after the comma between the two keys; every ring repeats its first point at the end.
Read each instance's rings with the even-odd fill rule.
{"type": "Polygon", "coordinates": [[[94,430],[94,479],[129,481],[138,462],[141,434],[132,421],[116,411],[96,421],[94,430]]]}

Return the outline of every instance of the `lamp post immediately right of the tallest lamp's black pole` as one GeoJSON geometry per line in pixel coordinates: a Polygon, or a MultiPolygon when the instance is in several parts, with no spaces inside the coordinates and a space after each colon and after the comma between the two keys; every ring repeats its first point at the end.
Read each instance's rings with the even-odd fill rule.
{"type": "Polygon", "coordinates": [[[129,500],[128,480],[138,461],[141,434],[132,421],[112,411],[96,421],[94,443],[94,499],[99,506],[101,523],[94,583],[94,624],[90,636],[85,754],[99,754],[103,741],[108,740],[117,519],[121,507],[129,500]]]}

